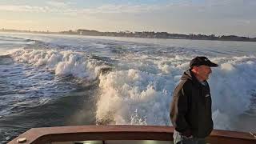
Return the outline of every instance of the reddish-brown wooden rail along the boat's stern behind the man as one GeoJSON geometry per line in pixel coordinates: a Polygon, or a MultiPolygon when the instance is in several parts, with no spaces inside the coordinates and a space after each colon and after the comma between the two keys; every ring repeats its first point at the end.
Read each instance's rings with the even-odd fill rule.
{"type": "MultiPolygon", "coordinates": [[[[174,128],[171,126],[58,126],[32,128],[14,138],[9,144],[17,144],[26,138],[26,144],[47,142],[70,142],[90,140],[158,140],[172,141],[174,128]]],[[[255,144],[249,133],[214,130],[207,138],[212,143],[255,144]]]]}

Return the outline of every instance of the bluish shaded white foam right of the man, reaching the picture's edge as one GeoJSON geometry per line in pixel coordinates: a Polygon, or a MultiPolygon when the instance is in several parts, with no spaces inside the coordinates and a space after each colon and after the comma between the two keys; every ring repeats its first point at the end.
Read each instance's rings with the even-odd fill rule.
{"type": "Polygon", "coordinates": [[[240,114],[250,110],[250,99],[256,86],[254,56],[216,58],[220,66],[210,78],[213,99],[214,128],[232,130],[240,114]]]}

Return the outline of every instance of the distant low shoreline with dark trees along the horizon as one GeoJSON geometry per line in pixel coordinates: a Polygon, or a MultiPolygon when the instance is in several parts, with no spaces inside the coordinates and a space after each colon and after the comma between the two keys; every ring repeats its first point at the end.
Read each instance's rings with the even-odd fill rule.
{"type": "Polygon", "coordinates": [[[50,31],[30,31],[30,30],[6,30],[1,29],[0,32],[10,33],[32,33],[32,34],[68,34],[68,35],[87,35],[87,36],[106,36],[106,37],[126,37],[126,38],[163,38],[163,39],[188,39],[188,40],[209,40],[209,41],[238,41],[238,42],[256,42],[256,38],[239,37],[236,35],[215,36],[214,34],[169,34],[167,32],[100,32],[97,30],[68,30],[61,32],[50,31]]]}

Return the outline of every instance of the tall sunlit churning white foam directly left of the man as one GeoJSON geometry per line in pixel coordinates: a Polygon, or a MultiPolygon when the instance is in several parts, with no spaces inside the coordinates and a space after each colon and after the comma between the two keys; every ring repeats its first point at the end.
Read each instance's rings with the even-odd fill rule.
{"type": "Polygon", "coordinates": [[[101,75],[98,122],[111,119],[115,124],[166,125],[170,97],[166,90],[157,90],[154,82],[167,84],[156,75],[134,69],[101,75]]]}

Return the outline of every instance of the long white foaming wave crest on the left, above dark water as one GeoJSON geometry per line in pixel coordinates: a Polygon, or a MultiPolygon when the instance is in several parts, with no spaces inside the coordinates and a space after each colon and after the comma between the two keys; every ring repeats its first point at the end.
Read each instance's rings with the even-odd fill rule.
{"type": "Polygon", "coordinates": [[[56,75],[73,75],[88,80],[96,78],[102,68],[96,61],[88,60],[85,54],[73,51],[18,49],[10,51],[10,55],[16,62],[43,66],[54,70],[56,75]]]}

